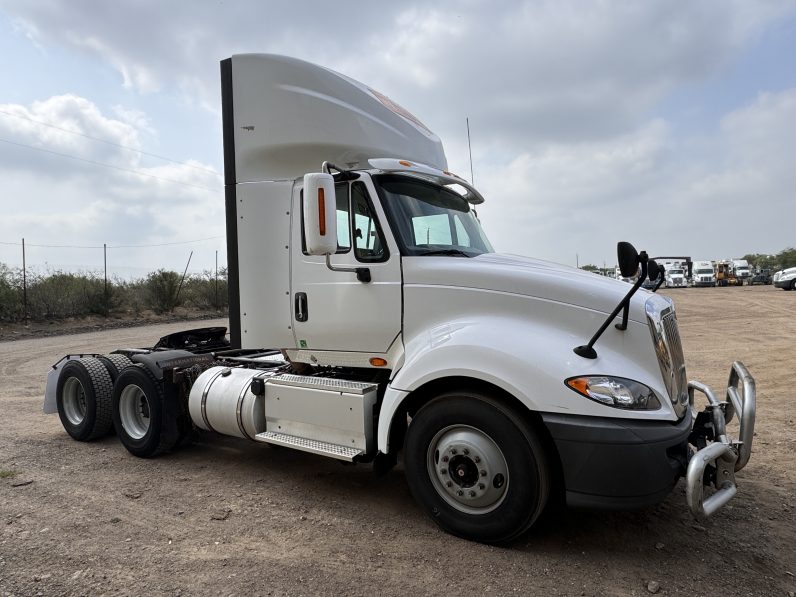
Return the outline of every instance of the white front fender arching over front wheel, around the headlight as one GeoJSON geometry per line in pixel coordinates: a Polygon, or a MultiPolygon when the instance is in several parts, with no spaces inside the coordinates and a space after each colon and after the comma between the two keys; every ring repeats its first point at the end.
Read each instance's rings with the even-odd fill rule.
{"type": "MultiPolygon", "coordinates": [[[[573,313],[573,319],[589,321],[588,329],[592,331],[604,317],[585,310],[575,311],[579,313],[573,313]]],[[[427,383],[448,377],[490,383],[532,411],[676,420],[646,325],[631,320],[626,331],[609,326],[597,343],[598,357],[585,359],[572,349],[584,344],[588,336],[573,333],[572,323],[570,320],[566,329],[555,326],[549,319],[479,316],[441,323],[409,338],[404,366],[393,378],[382,401],[379,449],[383,452],[388,449],[391,422],[401,403],[427,383]],[[656,411],[620,410],[588,400],[564,384],[569,377],[590,374],[617,375],[644,383],[655,390],[663,406],[656,411]]]]}

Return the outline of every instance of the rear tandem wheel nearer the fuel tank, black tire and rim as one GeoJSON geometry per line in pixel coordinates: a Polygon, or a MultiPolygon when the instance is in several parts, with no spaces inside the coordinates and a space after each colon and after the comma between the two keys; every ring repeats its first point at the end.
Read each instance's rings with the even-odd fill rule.
{"type": "Polygon", "coordinates": [[[151,458],[180,440],[174,405],[167,404],[162,382],[142,364],[125,367],[113,386],[113,424],[127,451],[151,458]]]}

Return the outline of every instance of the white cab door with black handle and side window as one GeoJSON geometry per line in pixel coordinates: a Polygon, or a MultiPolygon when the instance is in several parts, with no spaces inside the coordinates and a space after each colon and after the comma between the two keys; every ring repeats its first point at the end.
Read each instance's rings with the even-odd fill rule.
{"type": "Polygon", "coordinates": [[[367,268],[370,281],[307,255],[301,192],[293,196],[291,303],[296,348],[386,353],[401,331],[401,256],[369,177],[337,182],[333,267],[367,268]]]}

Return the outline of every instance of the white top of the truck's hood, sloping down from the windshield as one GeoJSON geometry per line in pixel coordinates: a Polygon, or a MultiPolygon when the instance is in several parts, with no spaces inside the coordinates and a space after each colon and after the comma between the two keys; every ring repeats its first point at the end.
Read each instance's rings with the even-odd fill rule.
{"type": "MultiPolygon", "coordinates": [[[[477,257],[404,257],[404,284],[477,288],[610,313],[630,290],[621,282],[574,267],[502,253],[477,257]]],[[[648,291],[639,289],[630,318],[645,323],[648,291]]]]}

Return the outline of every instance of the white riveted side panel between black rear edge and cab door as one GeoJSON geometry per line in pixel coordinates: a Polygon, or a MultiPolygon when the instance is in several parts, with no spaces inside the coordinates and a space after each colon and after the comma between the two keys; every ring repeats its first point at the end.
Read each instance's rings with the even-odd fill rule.
{"type": "Polygon", "coordinates": [[[293,181],[237,185],[242,348],[294,347],[290,306],[293,181]]]}

